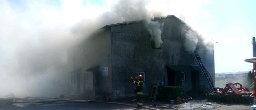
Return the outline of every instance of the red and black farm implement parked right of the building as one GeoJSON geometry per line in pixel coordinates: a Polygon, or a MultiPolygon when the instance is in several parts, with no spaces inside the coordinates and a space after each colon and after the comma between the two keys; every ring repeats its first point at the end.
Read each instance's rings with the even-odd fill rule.
{"type": "Polygon", "coordinates": [[[240,83],[226,84],[223,90],[216,90],[212,93],[205,93],[208,100],[235,102],[235,103],[253,103],[254,92],[250,92],[248,88],[243,88],[240,83]],[[236,87],[239,85],[240,87],[236,87]]]}

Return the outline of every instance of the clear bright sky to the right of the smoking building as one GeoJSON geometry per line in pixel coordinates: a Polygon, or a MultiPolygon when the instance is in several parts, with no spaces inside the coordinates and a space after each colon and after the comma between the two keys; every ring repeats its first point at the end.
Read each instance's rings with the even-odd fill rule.
{"type": "Polygon", "coordinates": [[[238,72],[252,69],[243,59],[252,57],[252,37],[256,37],[254,0],[213,0],[208,10],[213,25],[198,19],[197,23],[215,38],[215,72],[238,72]]]}

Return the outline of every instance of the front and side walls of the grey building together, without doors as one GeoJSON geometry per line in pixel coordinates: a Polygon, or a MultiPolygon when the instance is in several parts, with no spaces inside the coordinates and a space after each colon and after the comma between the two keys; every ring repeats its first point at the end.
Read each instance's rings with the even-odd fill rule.
{"type": "MultiPolygon", "coordinates": [[[[191,89],[191,67],[197,65],[193,53],[188,53],[184,48],[185,33],[189,26],[175,17],[157,19],[164,23],[162,27],[162,41],[160,49],[153,48],[150,41],[151,35],[142,22],[119,24],[104,27],[106,30],[93,35],[77,45],[68,53],[68,65],[73,63],[74,67],[81,68],[80,75],[86,81],[86,70],[91,65],[99,64],[97,90],[94,92],[109,93],[112,99],[134,96],[135,85],[131,83],[130,77],[145,72],[144,95],[149,94],[151,84],[155,78],[167,85],[166,65],[179,65],[180,71],[185,72],[185,81],[182,81],[184,91],[191,89]],[[85,50],[85,52],[83,52],[85,50]],[[102,75],[102,68],[108,67],[108,76],[102,75]]],[[[213,76],[214,80],[214,52],[200,51],[205,68],[213,76]]],[[[208,86],[203,74],[200,74],[200,85],[208,86]]],[[[84,84],[86,91],[86,85],[84,84]]],[[[87,94],[85,92],[85,94],[87,94]]]]}

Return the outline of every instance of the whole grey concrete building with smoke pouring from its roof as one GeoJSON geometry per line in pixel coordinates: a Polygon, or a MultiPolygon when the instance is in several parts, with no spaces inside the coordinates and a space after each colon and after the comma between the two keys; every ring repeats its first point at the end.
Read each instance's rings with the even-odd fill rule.
{"type": "MultiPolygon", "coordinates": [[[[182,31],[190,30],[189,26],[174,15],[155,20],[164,23],[160,48],[154,48],[143,21],[134,21],[106,25],[70,49],[70,92],[89,98],[134,96],[135,86],[130,77],[138,74],[144,77],[143,95],[149,94],[155,78],[162,85],[182,86],[184,91],[198,85],[208,86],[194,54],[184,49],[182,31]]],[[[214,81],[214,53],[198,53],[214,81]]]]}

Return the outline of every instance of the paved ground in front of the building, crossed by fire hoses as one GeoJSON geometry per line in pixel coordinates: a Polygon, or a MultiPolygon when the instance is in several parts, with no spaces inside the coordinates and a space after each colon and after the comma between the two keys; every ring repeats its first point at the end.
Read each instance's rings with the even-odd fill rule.
{"type": "MultiPolygon", "coordinates": [[[[62,103],[62,102],[44,102],[44,103],[13,103],[11,99],[0,99],[0,110],[135,110],[132,106],[119,104],[85,102],[85,103],[62,103]]],[[[136,102],[132,99],[113,101],[118,103],[132,104],[136,102]]],[[[223,104],[209,103],[206,100],[190,101],[182,104],[169,104],[166,101],[143,100],[144,107],[161,109],[161,110],[249,110],[250,105],[242,104],[223,104]],[[153,105],[155,104],[155,107],[153,105]]],[[[146,109],[142,109],[146,110],[146,109]]]]}

